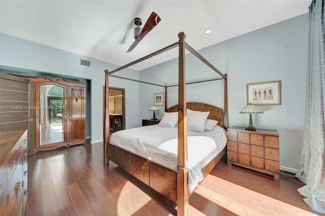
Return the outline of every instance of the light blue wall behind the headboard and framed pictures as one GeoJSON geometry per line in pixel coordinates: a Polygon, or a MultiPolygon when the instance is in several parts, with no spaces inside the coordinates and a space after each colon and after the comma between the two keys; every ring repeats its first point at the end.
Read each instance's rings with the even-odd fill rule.
{"type": "MultiPolygon", "coordinates": [[[[249,115],[239,113],[246,105],[247,83],[281,81],[281,105],[259,105],[264,114],[253,115],[253,125],[278,130],[280,165],[285,168],[297,169],[300,163],[306,104],[307,39],[308,14],[304,14],[199,50],[222,73],[228,74],[229,126],[246,127],[249,123],[249,115]]],[[[142,70],[140,78],[159,84],[176,83],[177,61],[142,70]]],[[[212,70],[191,55],[185,61],[186,80],[213,77],[212,70]]],[[[152,93],[163,92],[163,89],[140,85],[140,119],[152,116],[148,111],[153,103],[152,93]]],[[[178,103],[177,94],[176,88],[169,90],[170,106],[178,103]]],[[[220,81],[192,84],[186,88],[187,101],[220,107],[223,107],[222,94],[220,81]]],[[[158,108],[157,116],[161,117],[164,107],[158,108]]]]}

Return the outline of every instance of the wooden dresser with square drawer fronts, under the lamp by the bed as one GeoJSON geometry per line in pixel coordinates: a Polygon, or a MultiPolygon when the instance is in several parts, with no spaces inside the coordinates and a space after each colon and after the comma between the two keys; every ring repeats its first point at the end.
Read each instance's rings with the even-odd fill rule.
{"type": "Polygon", "coordinates": [[[227,131],[228,165],[238,165],[280,180],[279,134],[272,129],[246,131],[232,126],[227,131]]]}

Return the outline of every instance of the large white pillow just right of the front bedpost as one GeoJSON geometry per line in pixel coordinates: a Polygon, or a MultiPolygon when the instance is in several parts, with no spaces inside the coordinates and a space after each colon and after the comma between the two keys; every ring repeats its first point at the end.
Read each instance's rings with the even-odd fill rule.
{"type": "Polygon", "coordinates": [[[200,112],[187,109],[187,129],[194,132],[204,132],[205,122],[210,112],[200,112]]]}

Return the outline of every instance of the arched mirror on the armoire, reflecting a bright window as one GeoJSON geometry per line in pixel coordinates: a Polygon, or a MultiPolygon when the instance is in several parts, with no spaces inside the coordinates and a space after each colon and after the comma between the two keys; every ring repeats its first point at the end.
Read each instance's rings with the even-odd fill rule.
{"type": "Polygon", "coordinates": [[[55,84],[40,85],[40,145],[64,141],[63,88],[55,84]]]}

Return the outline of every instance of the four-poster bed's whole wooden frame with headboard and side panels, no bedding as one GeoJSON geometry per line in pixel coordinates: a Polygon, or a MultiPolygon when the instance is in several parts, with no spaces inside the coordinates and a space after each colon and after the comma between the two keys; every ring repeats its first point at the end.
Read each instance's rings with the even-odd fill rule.
{"type": "MultiPolygon", "coordinates": [[[[211,63],[204,59],[199,53],[193,50],[184,41],[185,34],[183,32],[178,34],[179,41],[172,44],[164,49],[156,51],[148,56],[145,56],[139,60],[129,63],[125,66],[117,68],[111,72],[105,70],[105,101],[104,101],[104,163],[108,164],[109,160],[118,164],[121,168],[140,179],[145,184],[149,185],[151,188],[155,189],[159,193],[163,194],[165,197],[177,203],[177,214],[185,215],[188,213],[188,198],[191,195],[188,189],[188,135],[187,135],[187,109],[201,112],[209,112],[208,119],[214,119],[218,121],[218,125],[227,128],[228,127],[228,111],[227,111],[227,82],[226,75],[222,74],[218,69],[216,69],[211,63]],[[165,88],[165,112],[177,112],[178,113],[178,126],[177,126],[177,166],[175,170],[161,166],[156,162],[150,161],[148,158],[139,156],[132,151],[127,151],[116,145],[110,143],[110,133],[109,133],[109,102],[108,102],[108,89],[109,89],[109,76],[124,78],[120,76],[112,75],[119,70],[137,64],[148,58],[151,58],[160,53],[166,52],[175,47],[179,47],[179,91],[178,91],[178,105],[168,108],[167,104],[167,88],[174,87],[177,85],[159,85],[154,83],[149,83],[140,80],[134,80],[125,78],[128,80],[134,80],[142,83],[148,83],[153,85],[158,85],[165,88]],[[192,53],[194,56],[199,58],[212,70],[221,76],[214,79],[196,81],[196,82],[185,82],[185,49],[192,53]],[[204,103],[186,103],[185,97],[185,85],[193,84],[205,81],[213,81],[223,79],[224,80],[224,109],[220,109],[215,106],[211,106],[204,103]]],[[[188,110],[189,111],[189,110],[188,110]]],[[[165,114],[166,114],[165,113],[165,114]]],[[[152,125],[156,126],[156,125],[152,125]]],[[[150,126],[146,126],[150,127],[150,126]]],[[[191,132],[189,132],[191,133],[191,132]]],[[[221,151],[213,155],[213,159],[205,163],[201,168],[203,177],[205,178],[221,157],[225,154],[225,147],[221,151]]]]}

